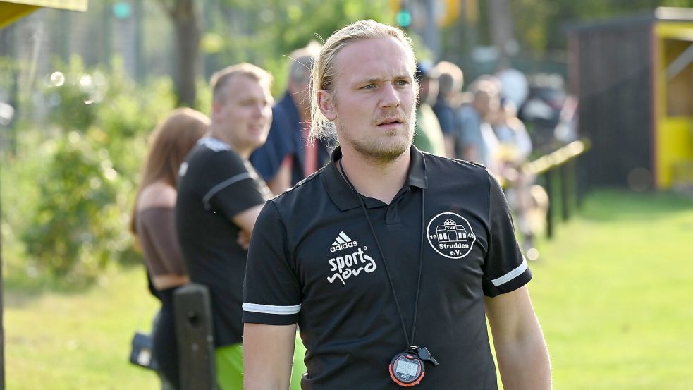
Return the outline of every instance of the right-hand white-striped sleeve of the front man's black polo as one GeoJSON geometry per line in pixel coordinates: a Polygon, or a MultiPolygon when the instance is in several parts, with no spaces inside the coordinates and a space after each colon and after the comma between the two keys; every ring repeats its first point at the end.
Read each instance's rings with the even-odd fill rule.
{"type": "Polygon", "coordinates": [[[527,284],[532,271],[517,245],[513,219],[501,185],[489,175],[489,250],[484,259],[484,295],[509,293],[527,284]]]}

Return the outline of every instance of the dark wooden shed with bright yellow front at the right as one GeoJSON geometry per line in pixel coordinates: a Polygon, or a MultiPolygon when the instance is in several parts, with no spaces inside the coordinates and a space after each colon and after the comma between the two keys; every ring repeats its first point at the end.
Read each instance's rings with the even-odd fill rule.
{"type": "Polygon", "coordinates": [[[693,185],[693,8],[570,25],[570,90],[594,185],[693,185]]]}

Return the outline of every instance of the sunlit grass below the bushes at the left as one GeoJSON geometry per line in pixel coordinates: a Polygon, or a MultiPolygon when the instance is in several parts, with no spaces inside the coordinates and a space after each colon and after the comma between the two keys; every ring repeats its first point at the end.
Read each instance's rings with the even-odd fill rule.
{"type": "Polygon", "coordinates": [[[78,292],[5,293],[7,389],[156,389],[128,362],[136,329],[149,331],[157,303],[142,269],[78,292]]]}

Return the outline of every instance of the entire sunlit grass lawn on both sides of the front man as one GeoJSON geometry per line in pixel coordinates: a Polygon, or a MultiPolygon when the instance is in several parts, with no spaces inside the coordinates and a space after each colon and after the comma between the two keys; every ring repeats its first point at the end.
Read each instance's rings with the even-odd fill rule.
{"type": "MultiPolygon", "coordinates": [[[[556,389],[691,388],[693,200],[592,193],[539,250],[529,289],[556,389]]],[[[157,308],[141,269],[78,291],[4,293],[8,389],[157,389],[128,362],[133,331],[149,331],[157,308]]]]}

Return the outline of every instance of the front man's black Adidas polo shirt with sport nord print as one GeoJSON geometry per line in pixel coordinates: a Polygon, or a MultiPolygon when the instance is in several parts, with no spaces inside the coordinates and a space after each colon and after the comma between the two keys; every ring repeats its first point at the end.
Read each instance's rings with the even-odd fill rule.
{"type": "MultiPolygon", "coordinates": [[[[411,148],[407,180],[390,205],[364,197],[411,333],[440,365],[418,389],[496,389],[484,295],[532,274],[507,202],[484,167],[411,148]],[[422,196],[424,215],[422,218],[422,196]]],[[[400,389],[388,364],[407,347],[392,289],[360,202],[331,162],[268,202],[255,224],[243,321],[295,324],[307,348],[303,389],[400,389]]],[[[410,334],[411,336],[411,334],[410,334]]]]}

